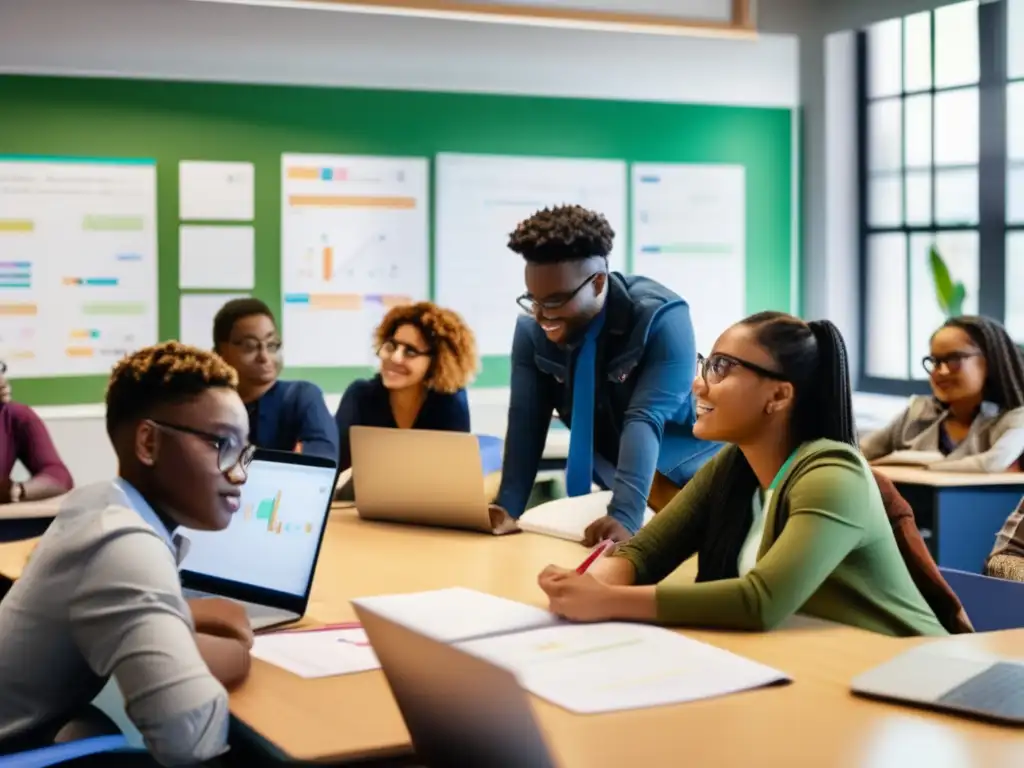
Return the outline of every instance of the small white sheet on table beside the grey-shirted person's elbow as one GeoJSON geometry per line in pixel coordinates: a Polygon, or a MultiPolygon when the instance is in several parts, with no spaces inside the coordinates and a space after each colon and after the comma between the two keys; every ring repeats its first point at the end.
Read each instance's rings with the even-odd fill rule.
{"type": "Polygon", "coordinates": [[[256,658],[304,678],[380,669],[377,654],[361,629],[258,635],[252,653],[256,658]]]}

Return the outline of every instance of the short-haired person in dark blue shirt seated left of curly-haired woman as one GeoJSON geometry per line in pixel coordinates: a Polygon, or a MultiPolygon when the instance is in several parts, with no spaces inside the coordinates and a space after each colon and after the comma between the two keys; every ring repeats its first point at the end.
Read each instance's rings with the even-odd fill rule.
{"type": "Polygon", "coordinates": [[[274,451],[334,459],[338,428],[324,392],[308,381],[281,381],[281,337],[270,308],[259,299],[233,299],[213,321],[213,348],[239,373],[249,412],[249,440],[274,451]]]}

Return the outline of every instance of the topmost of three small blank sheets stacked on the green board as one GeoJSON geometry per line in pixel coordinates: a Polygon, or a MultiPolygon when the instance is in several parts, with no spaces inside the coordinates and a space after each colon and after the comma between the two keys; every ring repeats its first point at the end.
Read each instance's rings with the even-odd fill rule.
{"type": "Polygon", "coordinates": [[[255,178],[252,163],[182,160],[178,164],[178,218],[252,221],[255,178]]]}

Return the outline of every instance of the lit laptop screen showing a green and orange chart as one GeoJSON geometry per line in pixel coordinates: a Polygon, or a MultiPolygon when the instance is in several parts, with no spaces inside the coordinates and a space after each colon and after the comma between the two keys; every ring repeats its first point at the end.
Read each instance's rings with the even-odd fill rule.
{"type": "MultiPolygon", "coordinates": [[[[182,531],[184,571],[305,597],[330,512],[337,470],[305,457],[258,452],[242,508],[225,530],[182,531]]],[[[326,463],[326,462],[325,462],[326,463]]]]}

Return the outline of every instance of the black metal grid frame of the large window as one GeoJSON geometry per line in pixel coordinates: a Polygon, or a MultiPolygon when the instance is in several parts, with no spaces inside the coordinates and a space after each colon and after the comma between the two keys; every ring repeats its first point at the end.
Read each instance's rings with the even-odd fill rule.
{"type": "MultiPolygon", "coordinates": [[[[915,233],[941,233],[952,231],[978,232],[978,311],[980,314],[993,317],[1000,323],[1006,321],[1006,247],[1007,237],[1011,231],[1024,231],[1024,222],[1009,225],[1007,221],[1007,176],[1009,167],[1009,150],[1007,145],[1007,95],[1011,82],[1024,82],[1024,77],[1011,81],[1008,78],[1008,25],[1006,0],[997,2],[981,2],[978,5],[978,51],[979,79],[976,85],[958,85],[949,87],[935,86],[935,10],[931,14],[932,36],[932,84],[928,89],[904,90],[906,16],[900,17],[900,92],[891,96],[871,97],[868,93],[868,71],[870,67],[870,51],[867,30],[857,32],[856,38],[856,93],[857,93],[857,206],[858,206],[858,331],[860,336],[857,353],[858,376],[857,390],[878,394],[910,395],[929,392],[927,379],[893,379],[870,376],[867,371],[868,346],[868,296],[869,286],[869,254],[868,242],[872,234],[897,233],[907,239],[915,233]],[[905,217],[906,173],[905,165],[905,102],[907,97],[930,94],[934,99],[936,93],[947,93],[965,88],[978,90],[978,223],[977,224],[937,224],[935,215],[935,172],[937,168],[955,168],[956,166],[935,165],[935,111],[932,109],[932,163],[931,196],[933,222],[929,225],[908,225],[905,217]],[[869,142],[869,106],[874,101],[899,100],[901,114],[900,143],[901,167],[898,173],[903,189],[903,223],[899,226],[872,226],[868,221],[870,197],[868,195],[871,172],[868,158],[869,142]]],[[[941,55],[941,51],[938,52],[941,55]]],[[[1019,163],[1024,167],[1024,162],[1019,163]]],[[[973,167],[973,166],[972,166],[973,167]]],[[[909,259],[909,254],[907,254],[909,259]]],[[[912,355],[913,343],[909,338],[912,333],[911,305],[912,284],[909,271],[906,287],[907,314],[907,350],[908,357],[912,355]]],[[[907,373],[912,377],[915,360],[908,359],[907,373]]]]}

